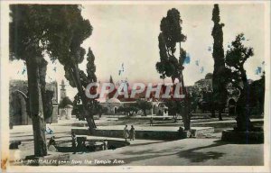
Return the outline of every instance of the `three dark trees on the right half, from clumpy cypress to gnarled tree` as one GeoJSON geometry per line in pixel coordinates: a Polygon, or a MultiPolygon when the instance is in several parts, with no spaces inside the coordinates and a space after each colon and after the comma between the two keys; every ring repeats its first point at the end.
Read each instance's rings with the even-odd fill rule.
{"type": "MultiPolygon", "coordinates": [[[[224,53],[223,48],[223,31],[224,23],[220,23],[220,8],[219,5],[214,5],[211,20],[214,23],[211,35],[213,37],[213,52],[214,70],[212,75],[212,91],[206,92],[204,97],[207,99],[212,117],[215,117],[215,111],[219,111],[219,119],[222,120],[222,111],[227,105],[227,97],[229,95],[227,86],[232,84],[233,87],[240,91],[240,96],[237,103],[237,128],[238,131],[251,131],[253,125],[250,123],[249,114],[252,106],[257,106],[263,111],[264,95],[265,95],[265,76],[255,81],[253,84],[248,84],[248,77],[244,68],[245,62],[254,55],[254,51],[250,47],[246,47],[242,41],[245,41],[243,33],[239,33],[236,39],[231,42],[229,50],[224,53]],[[257,86],[257,88],[256,88],[257,86]],[[253,94],[249,87],[256,89],[256,94],[253,94]],[[253,97],[252,97],[253,96],[253,97]]],[[[189,97],[184,89],[183,84],[183,61],[186,57],[185,50],[182,50],[181,42],[186,40],[182,34],[182,20],[177,9],[171,9],[167,12],[160,24],[161,32],[158,37],[160,61],[156,63],[156,70],[161,75],[161,78],[172,77],[173,83],[175,78],[182,83],[185,99],[182,101],[168,100],[166,105],[173,114],[182,114],[182,120],[185,130],[190,129],[190,114],[192,108],[196,106],[195,96],[189,97]],[[176,59],[174,52],[176,43],[179,43],[180,55],[176,59]]]]}

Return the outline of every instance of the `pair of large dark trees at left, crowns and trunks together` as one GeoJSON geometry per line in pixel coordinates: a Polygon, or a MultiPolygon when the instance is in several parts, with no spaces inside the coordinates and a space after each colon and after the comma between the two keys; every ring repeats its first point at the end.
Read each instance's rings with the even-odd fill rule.
{"type": "Polygon", "coordinates": [[[81,16],[79,5],[10,5],[9,50],[10,59],[22,59],[27,68],[30,115],[33,119],[35,156],[47,155],[45,138],[47,60],[58,59],[64,66],[70,86],[77,87],[76,102],[84,106],[89,129],[96,127],[93,114],[95,101],[88,100],[84,88],[89,81],[96,81],[94,55],[89,49],[86,75],[78,64],[86,51],[80,46],[89,38],[92,26],[81,16]]]}

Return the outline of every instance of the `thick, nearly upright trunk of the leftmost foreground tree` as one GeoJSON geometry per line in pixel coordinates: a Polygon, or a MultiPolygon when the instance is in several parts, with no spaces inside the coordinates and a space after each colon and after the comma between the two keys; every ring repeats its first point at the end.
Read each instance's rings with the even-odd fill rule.
{"type": "Polygon", "coordinates": [[[28,93],[30,114],[33,121],[34,155],[42,157],[47,155],[44,114],[42,108],[42,90],[40,84],[39,59],[27,58],[28,93]]]}

